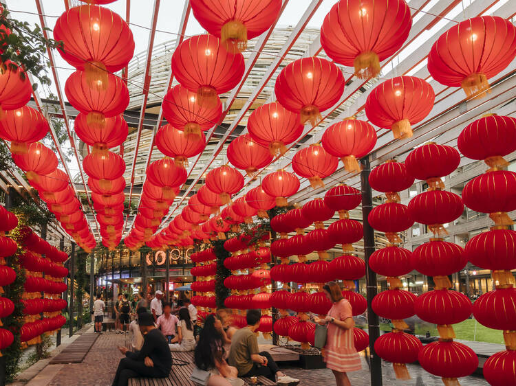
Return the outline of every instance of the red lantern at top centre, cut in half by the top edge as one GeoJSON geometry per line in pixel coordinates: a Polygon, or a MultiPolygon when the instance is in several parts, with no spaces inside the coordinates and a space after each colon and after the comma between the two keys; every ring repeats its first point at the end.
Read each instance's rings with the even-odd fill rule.
{"type": "Polygon", "coordinates": [[[220,38],[230,52],[242,52],[248,39],[266,32],[275,23],[281,0],[193,0],[193,16],[210,34],[220,38]]]}

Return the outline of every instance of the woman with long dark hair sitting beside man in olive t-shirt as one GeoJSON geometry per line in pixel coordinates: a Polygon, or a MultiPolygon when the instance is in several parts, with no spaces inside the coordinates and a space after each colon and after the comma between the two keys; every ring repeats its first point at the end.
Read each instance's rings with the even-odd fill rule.
{"type": "Polygon", "coordinates": [[[237,378],[237,369],[226,362],[220,330],[222,330],[221,321],[215,315],[208,315],[195,346],[193,362],[198,369],[211,373],[208,386],[243,385],[242,380],[237,378]]]}

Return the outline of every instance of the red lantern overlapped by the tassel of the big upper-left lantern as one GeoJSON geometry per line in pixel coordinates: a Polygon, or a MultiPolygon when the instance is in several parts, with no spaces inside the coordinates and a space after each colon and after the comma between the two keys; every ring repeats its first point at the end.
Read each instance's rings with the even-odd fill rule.
{"type": "Polygon", "coordinates": [[[65,94],[70,104],[87,114],[87,124],[95,128],[105,127],[106,117],[122,114],[129,104],[129,90],[122,78],[111,73],[105,76],[108,82],[105,89],[90,87],[87,74],[83,71],[72,73],[65,84],[65,94]]]}

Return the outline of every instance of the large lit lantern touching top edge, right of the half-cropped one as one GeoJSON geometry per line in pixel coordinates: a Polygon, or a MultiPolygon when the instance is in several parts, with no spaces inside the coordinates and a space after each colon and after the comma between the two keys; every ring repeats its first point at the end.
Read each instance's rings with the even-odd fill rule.
{"type": "Polygon", "coordinates": [[[338,1],[321,27],[321,45],[355,76],[378,75],[380,62],[394,55],[409,36],[412,19],[405,1],[338,1]]]}

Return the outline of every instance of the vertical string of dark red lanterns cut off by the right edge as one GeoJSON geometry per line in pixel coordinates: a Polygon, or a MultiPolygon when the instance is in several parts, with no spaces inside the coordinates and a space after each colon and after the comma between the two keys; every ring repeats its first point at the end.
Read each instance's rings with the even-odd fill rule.
{"type": "Polygon", "coordinates": [[[495,289],[480,296],[473,304],[473,315],[482,325],[504,331],[506,350],[497,352],[484,363],[484,377],[491,385],[515,382],[516,365],[516,282],[511,270],[516,269],[516,231],[510,229],[515,200],[513,184],[516,174],[504,168],[504,156],[516,150],[513,140],[516,120],[489,115],[472,122],[460,133],[458,148],[463,155],[484,160],[486,173],[464,186],[464,205],[477,212],[488,213],[495,225],[469,240],[465,258],[475,266],[491,270],[495,289]],[[483,146],[477,148],[477,144],[483,146]]]}

